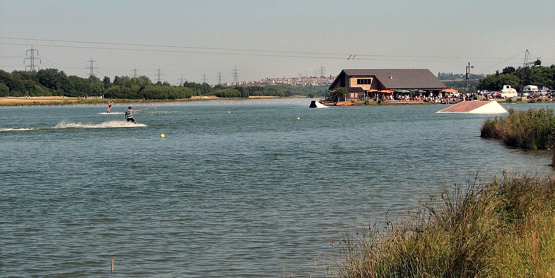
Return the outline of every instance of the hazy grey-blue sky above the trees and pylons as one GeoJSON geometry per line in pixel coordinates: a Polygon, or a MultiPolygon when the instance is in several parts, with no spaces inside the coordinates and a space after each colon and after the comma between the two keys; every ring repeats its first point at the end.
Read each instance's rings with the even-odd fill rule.
{"type": "Polygon", "coordinates": [[[0,0],[0,69],[179,84],[555,64],[555,1],[0,0]],[[37,54],[35,52],[35,54],[37,54]]]}

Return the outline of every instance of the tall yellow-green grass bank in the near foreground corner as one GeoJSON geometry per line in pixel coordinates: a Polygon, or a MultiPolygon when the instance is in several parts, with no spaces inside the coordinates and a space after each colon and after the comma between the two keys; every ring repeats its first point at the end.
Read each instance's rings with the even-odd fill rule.
{"type": "Polygon", "coordinates": [[[444,190],[408,223],[336,242],[340,277],[555,277],[555,179],[444,190]]]}

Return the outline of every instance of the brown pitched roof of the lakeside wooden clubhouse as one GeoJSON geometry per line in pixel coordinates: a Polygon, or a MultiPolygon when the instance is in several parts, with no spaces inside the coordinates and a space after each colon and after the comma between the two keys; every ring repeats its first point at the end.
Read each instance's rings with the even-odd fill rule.
{"type": "Polygon", "coordinates": [[[349,76],[374,75],[387,89],[447,88],[429,69],[344,69],[343,72],[349,76]]]}

